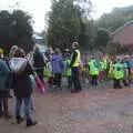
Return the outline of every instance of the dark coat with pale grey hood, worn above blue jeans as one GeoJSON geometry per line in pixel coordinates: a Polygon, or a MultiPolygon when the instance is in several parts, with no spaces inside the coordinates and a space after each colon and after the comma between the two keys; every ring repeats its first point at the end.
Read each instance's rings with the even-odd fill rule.
{"type": "MultiPolygon", "coordinates": [[[[14,71],[13,79],[13,92],[17,98],[29,98],[32,93],[32,83],[30,74],[33,74],[33,70],[29,62],[24,59],[19,59],[17,71],[14,71]],[[19,65],[20,62],[20,65],[19,65]]],[[[17,64],[17,61],[16,61],[17,64]]]]}

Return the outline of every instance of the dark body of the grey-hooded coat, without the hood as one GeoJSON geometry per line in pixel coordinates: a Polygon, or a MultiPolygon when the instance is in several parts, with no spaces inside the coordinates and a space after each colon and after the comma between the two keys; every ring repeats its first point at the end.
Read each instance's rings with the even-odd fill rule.
{"type": "Polygon", "coordinates": [[[17,98],[29,98],[32,93],[30,74],[33,74],[31,65],[28,63],[24,71],[16,73],[13,79],[13,91],[17,98]]]}

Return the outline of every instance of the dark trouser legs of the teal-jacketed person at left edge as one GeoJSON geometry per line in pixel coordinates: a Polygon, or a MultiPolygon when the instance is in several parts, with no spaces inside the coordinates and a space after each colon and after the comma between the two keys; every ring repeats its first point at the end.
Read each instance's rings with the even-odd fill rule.
{"type": "Polygon", "coordinates": [[[4,115],[9,114],[8,111],[8,98],[0,98],[0,113],[3,112],[4,115]]]}

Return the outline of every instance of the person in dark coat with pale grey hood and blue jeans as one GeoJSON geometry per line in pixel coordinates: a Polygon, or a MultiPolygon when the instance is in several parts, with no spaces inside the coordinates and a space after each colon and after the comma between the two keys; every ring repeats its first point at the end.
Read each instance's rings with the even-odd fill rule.
{"type": "Polygon", "coordinates": [[[10,60],[10,68],[14,72],[13,79],[13,92],[16,96],[16,119],[17,123],[20,124],[23,121],[21,116],[22,101],[25,106],[25,120],[27,126],[35,125],[37,122],[31,116],[31,95],[32,95],[32,83],[30,74],[33,74],[31,65],[24,58],[25,53],[22,49],[18,49],[14,53],[14,58],[10,60]],[[14,61],[14,63],[13,63],[14,61]]]}

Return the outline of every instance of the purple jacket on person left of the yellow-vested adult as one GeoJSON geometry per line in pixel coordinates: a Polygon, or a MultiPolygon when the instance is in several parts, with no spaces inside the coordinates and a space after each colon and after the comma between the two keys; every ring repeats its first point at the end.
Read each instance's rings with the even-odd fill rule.
{"type": "Polygon", "coordinates": [[[62,73],[63,72],[63,59],[61,55],[52,57],[52,73],[62,73]]]}

